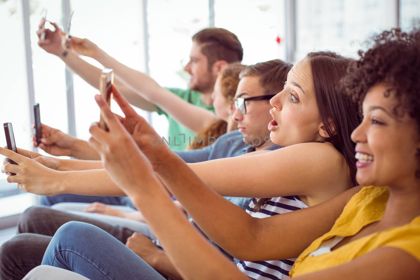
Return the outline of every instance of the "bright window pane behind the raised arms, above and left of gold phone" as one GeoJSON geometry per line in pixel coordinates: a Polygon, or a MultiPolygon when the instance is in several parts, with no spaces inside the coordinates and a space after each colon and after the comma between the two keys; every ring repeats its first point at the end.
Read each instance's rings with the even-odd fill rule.
{"type": "MultiPolygon", "coordinates": [[[[70,8],[74,11],[70,34],[88,38],[121,63],[144,71],[142,1],[71,0],[70,8]]],[[[102,65],[95,60],[84,59],[102,68],[102,65]]],[[[94,99],[98,91],[77,75],[73,75],[73,83],[76,135],[80,139],[87,140],[90,137],[90,124],[98,121],[100,116],[100,110],[94,99]]],[[[111,106],[114,108],[113,111],[120,112],[115,110],[118,107],[115,105],[111,106]]],[[[147,115],[142,110],[138,112],[143,116],[147,115]]]]}

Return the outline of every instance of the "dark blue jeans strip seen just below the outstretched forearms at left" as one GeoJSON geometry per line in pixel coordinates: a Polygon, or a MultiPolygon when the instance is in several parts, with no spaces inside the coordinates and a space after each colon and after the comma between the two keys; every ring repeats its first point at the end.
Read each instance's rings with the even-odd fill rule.
{"type": "Polygon", "coordinates": [[[45,206],[51,206],[60,202],[102,202],[109,205],[136,207],[126,196],[82,196],[78,194],[59,194],[56,196],[41,196],[39,203],[45,206]]]}

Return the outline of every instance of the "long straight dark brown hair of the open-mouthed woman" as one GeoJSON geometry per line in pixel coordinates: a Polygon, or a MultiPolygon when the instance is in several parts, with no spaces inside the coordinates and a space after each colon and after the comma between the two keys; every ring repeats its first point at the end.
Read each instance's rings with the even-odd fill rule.
{"type": "MultiPolygon", "coordinates": [[[[353,186],[357,186],[355,144],[350,135],[360,123],[359,109],[357,103],[345,94],[341,86],[341,79],[354,60],[329,51],[310,52],[306,58],[311,66],[320,118],[329,136],[323,142],[330,142],[343,154],[350,169],[353,186]]],[[[260,211],[269,200],[258,199],[255,212],[260,211]]]]}

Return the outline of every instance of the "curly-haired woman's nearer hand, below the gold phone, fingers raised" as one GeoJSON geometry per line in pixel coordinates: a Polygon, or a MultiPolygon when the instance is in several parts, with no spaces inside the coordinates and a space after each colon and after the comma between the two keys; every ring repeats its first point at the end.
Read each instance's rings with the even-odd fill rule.
{"type": "Polygon", "coordinates": [[[113,182],[128,196],[132,194],[135,197],[139,191],[139,182],[147,182],[147,179],[150,179],[150,182],[157,180],[152,165],[116,115],[111,112],[103,97],[96,95],[95,100],[109,131],[101,129],[98,123],[92,123],[89,128],[92,134],[89,144],[100,154],[113,182]]]}

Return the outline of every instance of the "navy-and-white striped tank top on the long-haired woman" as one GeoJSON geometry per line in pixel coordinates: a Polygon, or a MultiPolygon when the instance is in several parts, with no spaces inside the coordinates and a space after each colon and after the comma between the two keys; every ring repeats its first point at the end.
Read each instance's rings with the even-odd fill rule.
{"type": "MultiPolygon", "coordinates": [[[[255,218],[266,218],[278,214],[307,208],[297,196],[280,196],[270,199],[260,212],[253,212],[257,199],[253,199],[247,207],[247,213],[255,218]]],[[[296,259],[281,259],[277,261],[245,262],[239,261],[237,267],[245,275],[255,280],[278,280],[289,278],[296,259]]]]}

